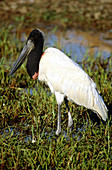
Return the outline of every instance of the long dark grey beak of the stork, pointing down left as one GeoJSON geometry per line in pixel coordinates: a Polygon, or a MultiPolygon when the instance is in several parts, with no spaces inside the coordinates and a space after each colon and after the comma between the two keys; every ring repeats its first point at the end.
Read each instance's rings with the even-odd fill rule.
{"type": "Polygon", "coordinates": [[[18,57],[17,61],[15,62],[12,70],[10,71],[9,76],[11,76],[24,63],[26,57],[33,48],[34,48],[33,42],[31,40],[28,40],[27,44],[23,47],[23,50],[21,51],[21,54],[18,57]]]}

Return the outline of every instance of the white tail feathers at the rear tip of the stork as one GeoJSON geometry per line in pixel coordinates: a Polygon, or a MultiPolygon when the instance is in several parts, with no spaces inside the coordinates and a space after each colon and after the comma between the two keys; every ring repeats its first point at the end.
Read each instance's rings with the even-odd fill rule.
{"type": "Polygon", "coordinates": [[[97,92],[96,89],[95,89],[95,95],[96,95],[96,98],[95,98],[96,100],[95,100],[95,106],[94,106],[95,110],[94,111],[97,113],[98,116],[100,115],[102,117],[102,119],[104,121],[106,121],[108,118],[108,114],[107,114],[108,109],[107,109],[102,97],[99,95],[99,93],[97,92]]]}

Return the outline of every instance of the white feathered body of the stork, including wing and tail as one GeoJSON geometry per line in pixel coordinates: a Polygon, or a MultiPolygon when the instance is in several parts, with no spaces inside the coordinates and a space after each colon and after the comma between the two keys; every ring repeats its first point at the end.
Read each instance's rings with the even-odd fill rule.
{"type": "Polygon", "coordinates": [[[38,78],[49,86],[58,104],[66,96],[68,100],[95,111],[103,120],[107,119],[107,108],[96,84],[77,63],[60,50],[45,50],[39,64],[38,78]]]}

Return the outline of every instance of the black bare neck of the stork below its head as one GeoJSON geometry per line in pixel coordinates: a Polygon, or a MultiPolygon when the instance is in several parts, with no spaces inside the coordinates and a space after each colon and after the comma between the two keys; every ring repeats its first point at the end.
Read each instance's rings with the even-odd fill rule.
{"type": "Polygon", "coordinates": [[[35,72],[38,73],[39,62],[40,62],[41,55],[43,53],[42,50],[43,50],[43,45],[41,45],[40,47],[37,46],[30,52],[28,56],[26,68],[30,77],[32,77],[35,74],[35,72]]]}

